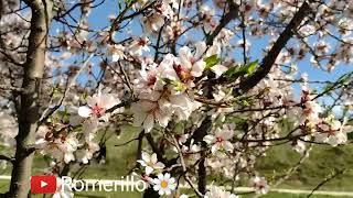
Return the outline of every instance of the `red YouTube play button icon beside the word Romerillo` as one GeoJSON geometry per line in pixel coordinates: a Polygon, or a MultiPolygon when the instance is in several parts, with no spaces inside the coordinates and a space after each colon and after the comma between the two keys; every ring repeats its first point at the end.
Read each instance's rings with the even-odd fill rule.
{"type": "Polygon", "coordinates": [[[53,175],[41,175],[31,177],[32,194],[55,194],[56,177],[53,175]]]}

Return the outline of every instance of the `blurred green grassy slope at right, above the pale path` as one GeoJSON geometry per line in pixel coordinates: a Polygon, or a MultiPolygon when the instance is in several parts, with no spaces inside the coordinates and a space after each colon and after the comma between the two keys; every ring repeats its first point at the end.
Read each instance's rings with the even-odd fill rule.
{"type": "MultiPolygon", "coordinates": [[[[302,166],[279,187],[312,189],[332,173],[343,168],[351,169],[353,167],[352,153],[353,145],[339,147],[317,145],[302,166]]],[[[267,178],[270,178],[274,173],[280,176],[286,173],[288,167],[295,165],[299,157],[289,146],[279,146],[271,148],[268,156],[258,162],[258,167],[267,178]]],[[[327,183],[320,189],[353,191],[352,184],[353,172],[347,170],[327,183]]]]}

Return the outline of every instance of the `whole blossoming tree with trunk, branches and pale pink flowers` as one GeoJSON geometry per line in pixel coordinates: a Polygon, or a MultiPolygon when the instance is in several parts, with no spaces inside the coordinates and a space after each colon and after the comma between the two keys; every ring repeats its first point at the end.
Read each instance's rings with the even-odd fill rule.
{"type": "Polygon", "coordinates": [[[255,164],[270,147],[351,142],[353,72],[335,69],[352,14],[350,0],[1,0],[4,196],[28,197],[34,155],[75,175],[124,125],[140,130],[121,145],[138,142],[127,172],[143,197],[237,197],[239,180],[266,194],[278,183],[255,164]]]}

